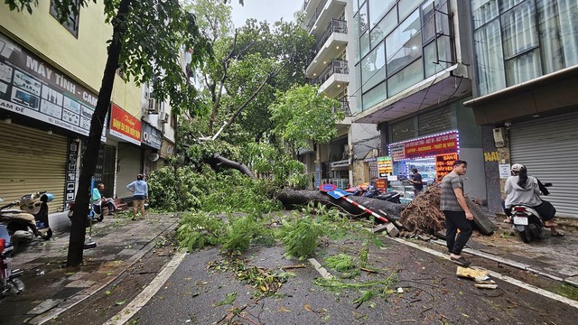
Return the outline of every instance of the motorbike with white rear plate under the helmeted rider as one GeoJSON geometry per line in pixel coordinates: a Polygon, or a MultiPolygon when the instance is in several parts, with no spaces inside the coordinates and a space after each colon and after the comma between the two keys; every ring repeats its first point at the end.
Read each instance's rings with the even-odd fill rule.
{"type": "MultiPolygon", "coordinates": [[[[550,194],[546,187],[552,186],[552,183],[542,184],[542,182],[538,181],[538,185],[542,195],[550,194]]],[[[543,238],[542,229],[544,228],[544,222],[536,209],[532,209],[532,207],[527,205],[518,204],[512,206],[510,211],[510,222],[514,225],[513,228],[524,243],[543,238]]]]}

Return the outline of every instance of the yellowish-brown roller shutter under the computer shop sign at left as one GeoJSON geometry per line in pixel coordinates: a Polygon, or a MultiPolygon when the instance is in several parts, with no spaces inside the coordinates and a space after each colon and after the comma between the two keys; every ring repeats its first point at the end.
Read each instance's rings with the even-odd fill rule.
{"type": "Polygon", "coordinates": [[[46,190],[54,195],[50,212],[62,209],[68,138],[0,123],[0,197],[14,201],[46,190]]]}

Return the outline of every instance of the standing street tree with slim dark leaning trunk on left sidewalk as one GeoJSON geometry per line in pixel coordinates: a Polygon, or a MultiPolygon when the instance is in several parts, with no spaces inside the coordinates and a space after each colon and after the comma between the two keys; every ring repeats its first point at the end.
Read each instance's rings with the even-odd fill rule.
{"type": "MultiPolygon", "coordinates": [[[[178,59],[182,49],[191,52],[191,66],[200,66],[210,55],[207,38],[201,35],[194,14],[183,10],[178,0],[103,0],[105,22],[111,23],[113,34],[107,46],[107,63],[98,92],[98,102],[92,116],[87,150],[82,157],[79,190],[76,195],[74,218],[70,229],[67,265],[82,263],[86,236],[85,218],[89,214],[90,179],[96,170],[100,135],[104,127],[117,69],[126,80],[137,85],[149,83],[154,98],[170,98],[172,113],[199,113],[194,103],[197,91],[189,82],[178,59]]],[[[96,3],[96,0],[92,2],[96,3]]],[[[37,0],[5,0],[11,10],[27,10],[33,14],[37,0]]],[[[61,23],[70,14],[78,14],[89,0],[53,0],[61,23]]]]}

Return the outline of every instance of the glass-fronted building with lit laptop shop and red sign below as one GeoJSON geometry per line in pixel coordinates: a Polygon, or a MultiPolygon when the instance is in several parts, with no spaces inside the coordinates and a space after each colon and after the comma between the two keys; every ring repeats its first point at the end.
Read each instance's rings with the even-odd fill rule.
{"type": "Polygon", "coordinates": [[[352,122],[377,125],[378,155],[392,165],[378,177],[389,174],[387,185],[411,200],[403,180],[412,168],[433,182],[459,157],[470,163],[467,194],[485,199],[480,126],[462,105],[471,97],[469,5],[350,0],[345,7],[352,122]]]}

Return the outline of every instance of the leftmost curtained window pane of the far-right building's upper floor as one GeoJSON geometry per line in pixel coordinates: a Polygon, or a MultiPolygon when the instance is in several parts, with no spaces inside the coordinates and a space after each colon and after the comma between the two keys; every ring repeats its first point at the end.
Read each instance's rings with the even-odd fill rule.
{"type": "Polygon", "coordinates": [[[494,20],[475,31],[473,39],[480,95],[506,88],[499,20],[494,20]]]}

